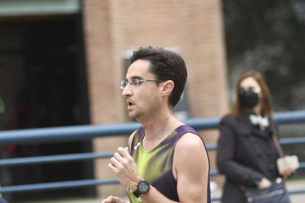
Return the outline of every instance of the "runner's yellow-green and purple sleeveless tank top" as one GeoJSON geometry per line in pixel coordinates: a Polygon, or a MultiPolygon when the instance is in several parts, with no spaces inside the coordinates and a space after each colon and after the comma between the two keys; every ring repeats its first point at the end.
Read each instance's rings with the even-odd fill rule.
{"type": "MultiPolygon", "coordinates": [[[[142,141],[145,136],[145,129],[141,126],[135,132],[135,135],[131,143],[131,156],[137,165],[140,176],[144,178],[150,185],[155,187],[165,197],[177,202],[179,202],[179,197],[177,192],[177,181],[175,180],[173,174],[174,148],[178,140],[182,137],[182,135],[186,133],[193,133],[198,135],[197,132],[192,127],[187,125],[181,125],[178,128],[176,128],[154,149],[150,151],[146,151],[142,146],[142,141]]],[[[209,161],[209,174],[210,174],[210,161],[209,161]]],[[[207,202],[211,202],[210,176],[208,178],[207,190],[208,190],[207,202]]],[[[127,194],[131,203],[142,202],[140,197],[136,198],[132,193],[133,191],[127,188],[127,194]]]]}

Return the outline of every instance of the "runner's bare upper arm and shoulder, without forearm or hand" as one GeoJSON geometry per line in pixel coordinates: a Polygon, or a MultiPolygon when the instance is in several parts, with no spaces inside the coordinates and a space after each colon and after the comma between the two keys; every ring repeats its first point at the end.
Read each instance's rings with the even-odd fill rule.
{"type": "Polygon", "coordinates": [[[207,202],[209,161],[198,135],[183,135],[175,147],[177,190],[180,202],[207,202]]]}

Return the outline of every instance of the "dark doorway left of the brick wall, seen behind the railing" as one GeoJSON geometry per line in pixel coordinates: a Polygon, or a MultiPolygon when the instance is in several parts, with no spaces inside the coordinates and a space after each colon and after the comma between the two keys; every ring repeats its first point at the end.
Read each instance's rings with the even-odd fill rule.
{"type": "MultiPolygon", "coordinates": [[[[81,15],[0,19],[0,130],[89,124],[81,15]],[[13,65],[12,65],[13,64],[13,65]]],[[[1,146],[1,157],[91,152],[91,141],[1,146]]],[[[93,178],[92,161],[6,167],[1,185],[93,178]]],[[[9,201],[94,196],[94,187],[3,194],[9,201]]]]}

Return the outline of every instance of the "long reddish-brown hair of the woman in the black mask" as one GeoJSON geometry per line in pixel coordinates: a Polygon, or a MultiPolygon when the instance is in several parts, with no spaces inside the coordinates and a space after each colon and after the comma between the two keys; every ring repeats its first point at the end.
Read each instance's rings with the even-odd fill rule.
{"type": "Polygon", "coordinates": [[[244,80],[247,77],[252,77],[254,80],[256,80],[262,90],[262,97],[260,98],[262,100],[262,109],[261,109],[260,114],[272,116],[273,110],[272,110],[272,106],[271,106],[270,91],[267,86],[267,83],[265,82],[262,74],[260,74],[257,71],[253,71],[253,70],[247,71],[246,73],[244,73],[240,76],[240,78],[237,82],[237,86],[236,86],[237,100],[235,102],[235,105],[231,109],[230,114],[235,117],[240,116],[240,111],[241,111],[241,107],[242,107],[241,103],[240,103],[240,98],[239,98],[239,93],[241,90],[240,83],[242,82],[242,80],[244,80]]]}

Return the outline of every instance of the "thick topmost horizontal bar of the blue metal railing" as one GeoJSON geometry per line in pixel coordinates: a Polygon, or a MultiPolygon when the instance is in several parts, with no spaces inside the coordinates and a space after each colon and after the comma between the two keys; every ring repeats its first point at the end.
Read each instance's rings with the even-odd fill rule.
{"type": "MultiPolygon", "coordinates": [[[[276,112],[274,118],[278,123],[305,122],[305,111],[276,112]]],[[[195,129],[205,130],[217,128],[220,118],[192,118],[183,122],[195,129]]],[[[90,139],[111,135],[124,135],[134,132],[140,123],[119,123],[111,125],[84,125],[68,127],[51,127],[27,130],[0,131],[0,143],[26,143],[90,139]]]]}

